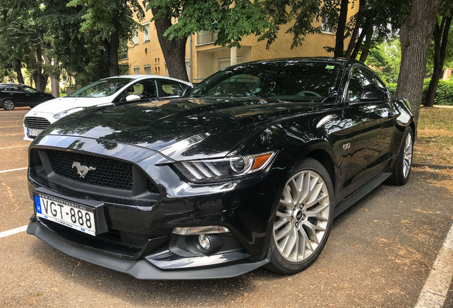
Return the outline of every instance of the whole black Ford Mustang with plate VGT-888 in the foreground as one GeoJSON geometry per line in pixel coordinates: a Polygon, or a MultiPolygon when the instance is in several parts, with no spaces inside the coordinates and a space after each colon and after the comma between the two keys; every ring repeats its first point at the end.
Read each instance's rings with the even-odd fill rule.
{"type": "Polygon", "coordinates": [[[358,61],[231,66],[170,100],[90,108],[29,149],[27,232],[140,279],[300,272],[332,220],[410,175],[415,123],[358,61]]]}

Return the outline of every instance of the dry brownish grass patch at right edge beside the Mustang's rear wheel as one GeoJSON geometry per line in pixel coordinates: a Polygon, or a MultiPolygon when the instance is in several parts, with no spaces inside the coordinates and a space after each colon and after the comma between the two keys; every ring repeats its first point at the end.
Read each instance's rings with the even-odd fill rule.
{"type": "Polygon", "coordinates": [[[453,108],[422,108],[414,163],[453,168],[453,108]]]}

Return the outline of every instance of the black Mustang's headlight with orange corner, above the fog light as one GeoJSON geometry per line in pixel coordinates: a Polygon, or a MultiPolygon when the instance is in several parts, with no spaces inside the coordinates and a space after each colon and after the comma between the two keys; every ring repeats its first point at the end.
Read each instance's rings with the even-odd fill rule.
{"type": "Polygon", "coordinates": [[[240,155],[228,158],[188,160],[175,163],[175,167],[192,182],[231,180],[266,168],[275,151],[256,155],[240,155]]]}

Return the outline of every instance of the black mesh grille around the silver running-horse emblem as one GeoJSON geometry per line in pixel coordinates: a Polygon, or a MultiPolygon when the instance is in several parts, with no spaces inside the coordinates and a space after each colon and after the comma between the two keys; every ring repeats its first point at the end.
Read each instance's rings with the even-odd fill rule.
{"type": "Polygon", "coordinates": [[[132,165],[129,163],[58,150],[48,150],[47,153],[52,169],[58,175],[90,185],[132,190],[132,165]],[[83,166],[95,169],[89,170],[82,178],[75,166],[77,163],[82,166],[79,170],[84,169],[83,166]]]}

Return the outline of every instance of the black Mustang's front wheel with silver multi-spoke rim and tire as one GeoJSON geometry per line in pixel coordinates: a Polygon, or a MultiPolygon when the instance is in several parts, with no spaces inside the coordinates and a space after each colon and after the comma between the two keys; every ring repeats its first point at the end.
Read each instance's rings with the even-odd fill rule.
{"type": "Polygon", "coordinates": [[[283,188],[274,216],[269,270],[296,274],[326,245],[333,220],[333,186],[326,168],[304,159],[283,188]]]}

